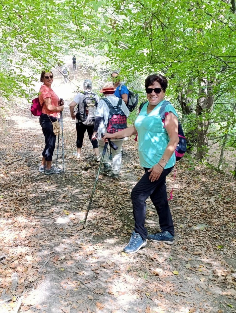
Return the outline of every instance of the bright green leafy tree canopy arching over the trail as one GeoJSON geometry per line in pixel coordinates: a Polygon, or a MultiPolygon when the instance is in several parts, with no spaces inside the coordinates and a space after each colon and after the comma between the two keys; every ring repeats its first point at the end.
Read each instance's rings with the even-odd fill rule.
{"type": "Polygon", "coordinates": [[[225,146],[235,146],[233,0],[0,0],[0,7],[3,96],[24,94],[31,75],[55,66],[65,47],[93,48],[139,90],[147,74],[168,77],[166,96],[179,107],[197,159],[206,159],[216,133],[219,146],[226,133],[225,146]]]}

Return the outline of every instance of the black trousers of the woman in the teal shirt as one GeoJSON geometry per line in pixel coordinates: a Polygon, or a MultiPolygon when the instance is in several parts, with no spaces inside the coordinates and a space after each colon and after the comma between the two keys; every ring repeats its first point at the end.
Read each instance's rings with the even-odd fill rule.
{"type": "Polygon", "coordinates": [[[145,173],[131,191],[131,200],[134,213],[134,231],[139,233],[143,239],[147,238],[147,228],[145,228],[146,200],[150,196],[159,216],[160,228],[168,230],[174,236],[174,225],[171,217],[166,192],[166,176],[174,167],[164,169],[158,180],[151,182],[148,177],[149,168],[145,168],[145,173]]]}

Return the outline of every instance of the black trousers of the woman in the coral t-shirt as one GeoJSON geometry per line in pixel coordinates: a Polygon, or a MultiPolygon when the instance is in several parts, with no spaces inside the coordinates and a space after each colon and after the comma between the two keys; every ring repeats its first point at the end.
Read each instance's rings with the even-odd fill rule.
{"type": "MultiPolygon", "coordinates": [[[[57,120],[56,117],[50,116],[52,122],[57,120]]],[[[56,145],[56,135],[54,135],[52,123],[47,114],[41,114],[39,123],[42,127],[43,134],[45,137],[45,147],[42,152],[42,156],[45,157],[46,161],[52,161],[53,152],[56,145]]]]}

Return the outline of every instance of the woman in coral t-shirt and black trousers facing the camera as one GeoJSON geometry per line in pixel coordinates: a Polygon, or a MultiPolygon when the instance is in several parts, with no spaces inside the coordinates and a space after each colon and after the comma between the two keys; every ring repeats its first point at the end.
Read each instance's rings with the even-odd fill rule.
{"type": "Polygon", "coordinates": [[[51,164],[56,145],[56,135],[54,134],[52,123],[60,119],[60,111],[64,110],[64,101],[60,102],[58,96],[51,89],[53,82],[53,74],[51,71],[42,71],[40,81],[43,85],[39,91],[39,102],[42,106],[42,114],[40,115],[39,122],[45,137],[45,148],[42,152],[43,157],[39,172],[45,172],[46,175],[59,174],[62,170],[55,168],[51,164]]]}

